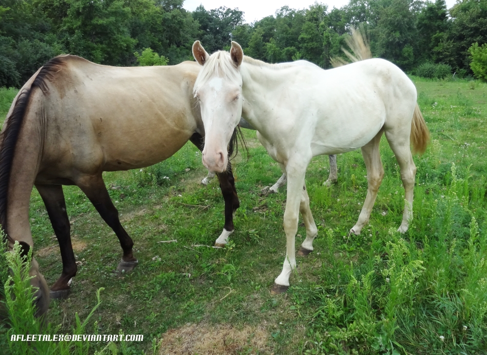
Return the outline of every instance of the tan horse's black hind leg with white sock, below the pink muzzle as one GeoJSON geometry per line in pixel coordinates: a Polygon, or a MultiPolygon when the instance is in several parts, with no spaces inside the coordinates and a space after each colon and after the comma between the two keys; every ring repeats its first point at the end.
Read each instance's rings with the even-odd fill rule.
{"type": "Polygon", "coordinates": [[[222,189],[223,199],[225,200],[225,226],[222,234],[215,241],[215,246],[223,247],[228,243],[228,237],[234,231],[233,215],[237,208],[240,207],[237,189],[235,188],[235,178],[232,173],[232,164],[228,160],[227,169],[223,173],[217,173],[218,180],[220,180],[220,188],[222,189]]]}

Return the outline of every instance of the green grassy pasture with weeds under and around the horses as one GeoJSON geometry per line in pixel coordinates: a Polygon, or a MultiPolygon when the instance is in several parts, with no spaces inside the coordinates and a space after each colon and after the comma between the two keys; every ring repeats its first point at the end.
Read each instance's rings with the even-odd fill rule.
{"type": "MultiPolygon", "coordinates": [[[[385,178],[360,236],[347,237],[367,192],[360,152],[338,156],[331,188],[322,186],[328,158],[314,158],[306,183],[315,251],[298,257],[289,291],[273,296],[285,253],[285,189],[261,189],[280,177],[279,166],[246,131],[250,157],[234,161],[235,233],[225,249],[195,246],[218,237],[224,202],[217,179],[200,184],[206,170],[187,144],[155,166],[104,175],[135,242],[131,274],[114,272],[118,239],[77,187],[64,187],[79,266],[71,296],[51,303],[49,320],[69,332],[75,312],[83,319],[104,287],[87,333],[145,336],[123,354],[486,354],[487,84],[413,80],[432,142],[414,158],[414,219],[405,235],[395,232],[404,189],[385,138],[385,178]]],[[[2,119],[15,93],[0,89],[2,119]]],[[[52,285],[61,260],[35,190],[30,213],[36,258],[52,285]]],[[[300,224],[297,243],[305,234],[300,224]]]]}

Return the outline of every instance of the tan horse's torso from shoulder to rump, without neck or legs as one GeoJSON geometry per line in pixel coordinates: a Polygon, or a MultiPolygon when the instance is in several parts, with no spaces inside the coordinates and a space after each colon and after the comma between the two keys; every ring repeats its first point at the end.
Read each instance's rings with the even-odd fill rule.
{"type": "Polygon", "coordinates": [[[202,126],[195,63],[110,67],[75,56],[46,80],[33,110],[45,131],[38,180],[144,167],[169,158],[202,126]]]}

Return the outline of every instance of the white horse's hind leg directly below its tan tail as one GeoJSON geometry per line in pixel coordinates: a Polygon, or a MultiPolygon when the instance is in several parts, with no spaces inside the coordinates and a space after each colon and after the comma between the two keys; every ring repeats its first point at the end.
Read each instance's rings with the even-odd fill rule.
{"type": "Polygon", "coordinates": [[[399,164],[401,180],[404,186],[404,212],[401,225],[397,231],[405,233],[409,229],[409,221],[412,219],[412,199],[416,165],[412,160],[409,135],[402,134],[398,136],[386,131],[386,138],[399,164]]]}

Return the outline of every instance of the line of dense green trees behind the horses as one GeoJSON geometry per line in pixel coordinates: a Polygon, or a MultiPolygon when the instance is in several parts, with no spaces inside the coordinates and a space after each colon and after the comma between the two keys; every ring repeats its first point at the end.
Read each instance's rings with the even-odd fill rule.
{"type": "Polygon", "coordinates": [[[472,74],[472,58],[485,71],[487,0],[461,0],[450,10],[444,0],[350,0],[339,9],[316,2],[304,10],[284,6],[251,24],[238,8],[200,5],[188,12],[183,2],[1,0],[0,87],[21,86],[62,53],[107,65],[177,64],[192,60],[195,39],[209,53],[236,40],[256,59],[306,59],[326,69],[330,57],[342,55],[351,26],[360,23],[374,57],[407,72],[428,67],[434,76],[441,64],[436,68],[443,73],[465,76],[472,74]]]}

